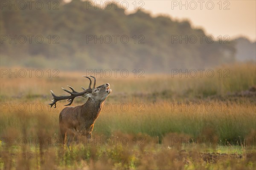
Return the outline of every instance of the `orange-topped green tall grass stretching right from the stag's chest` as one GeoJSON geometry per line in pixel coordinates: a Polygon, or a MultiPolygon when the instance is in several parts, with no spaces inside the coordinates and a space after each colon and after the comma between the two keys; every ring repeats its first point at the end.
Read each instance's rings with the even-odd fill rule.
{"type": "Polygon", "coordinates": [[[134,107],[130,104],[129,112],[122,112],[120,108],[116,112],[102,112],[96,121],[95,132],[110,135],[117,130],[123,133],[145,133],[159,137],[167,133],[185,133],[200,137],[205,135],[204,130],[211,129],[213,132],[210,135],[215,135],[222,141],[236,143],[239,141],[239,136],[246,138],[251,131],[255,131],[255,104],[230,104],[224,107],[226,103],[223,102],[201,103],[213,104],[215,109],[207,112],[206,107],[202,105],[200,110],[197,105],[197,110],[194,110],[193,105],[188,104],[186,107],[185,103],[177,108],[176,103],[163,101],[145,104],[145,112],[134,112],[134,107]]]}

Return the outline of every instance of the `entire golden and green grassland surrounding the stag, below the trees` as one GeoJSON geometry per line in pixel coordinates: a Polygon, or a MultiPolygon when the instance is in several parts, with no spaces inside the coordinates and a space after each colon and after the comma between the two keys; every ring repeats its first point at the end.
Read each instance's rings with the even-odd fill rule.
{"type": "MultiPolygon", "coordinates": [[[[256,68],[220,66],[206,74],[96,76],[112,92],[93,140],[62,149],[50,90],[87,87],[83,72],[1,69],[0,169],[255,169],[256,68]],[[7,71],[7,73],[6,73],[7,71]],[[49,74],[49,72],[51,74],[49,74]],[[210,73],[214,73],[214,75],[210,73]],[[39,73],[38,73],[39,74],[39,73]],[[55,75],[55,76],[54,76],[55,75]],[[24,77],[24,78],[22,78],[24,77]]],[[[131,70],[132,71],[132,70],[131,70]]],[[[189,72],[191,71],[191,72],[189,72]]],[[[209,71],[209,70],[208,70],[209,71]]],[[[80,91],[80,90],[79,90],[80,91]]],[[[83,104],[76,98],[72,106],[83,104]]]]}

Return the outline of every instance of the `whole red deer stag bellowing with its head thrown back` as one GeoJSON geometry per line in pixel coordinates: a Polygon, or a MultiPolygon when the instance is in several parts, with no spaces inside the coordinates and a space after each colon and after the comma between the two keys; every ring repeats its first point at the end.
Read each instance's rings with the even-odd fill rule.
{"type": "Polygon", "coordinates": [[[91,88],[92,81],[89,77],[83,76],[90,80],[90,84],[88,89],[84,89],[82,92],[76,92],[72,87],[68,86],[72,92],[62,88],[65,92],[70,93],[68,96],[56,96],[52,90],[53,100],[52,103],[49,104],[51,107],[55,105],[56,102],[60,100],[68,99],[70,101],[69,104],[65,105],[68,106],[72,104],[74,98],[77,96],[82,96],[84,98],[88,98],[87,102],[83,105],[76,106],[76,107],[66,107],[60,112],[59,116],[59,125],[61,130],[61,138],[63,142],[63,146],[65,145],[65,139],[67,135],[69,135],[67,141],[67,147],[70,148],[70,144],[74,138],[79,135],[86,136],[87,138],[91,138],[93,126],[95,123],[96,118],[99,116],[99,113],[102,109],[102,105],[105,99],[108,97],[109,93],[111,93],[111,89],[109,89],[109,84],[102,84],[95,88],[96,85],[96,78],[91,76],[94,79],[93,88],[91,88]]]}

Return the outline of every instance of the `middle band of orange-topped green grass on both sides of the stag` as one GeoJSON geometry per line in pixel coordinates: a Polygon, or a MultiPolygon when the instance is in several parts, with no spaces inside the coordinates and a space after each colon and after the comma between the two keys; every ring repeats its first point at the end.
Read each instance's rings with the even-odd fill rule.
{"type": "MultiPolygon", "coordinates": [[[[113,133],[122,132],[128,134],[147,134],[163,138],[168,133],[183,133],[190,137],[208,136],[218,138],[218,141],[228,141],[232,144],[240,143],[242,139],[255,138],[256,106],[255,104],[229,104],[224,102],[201,102],[198,104],[176,103],[162,101],[154,104],[145,104],[139,112],[139,107],[133,103],[127,104],[127,112],[120,107],[105,108],[96,120],[93,133],[111,136],[113,133]],[[214,110],[207,110],[205,105],[211,104],[214,110]],[[194,106],[197,106],[194,110],[194,106]],[[183,107],[183,108],[182,108],[183,107]],[[201,110],[202,109],[202,110],[201,110]],[[221,110],[220,110],[221,109],[221,110]],[[228,112],[226,112],[228,111],[228,112]]],[[[1,137],[14,134],[16,137],[38,136],[38,131],[46,131],[49,137],[59,134],[58,113],[37,112],[2,112],[1,113],[1,137]],[[43,121],[43,124],[40,124],[43,121]],[[42,126],[39,126],[42,125],[42,126]],[[9,133],[9,130],[12,133],[9,133]]],[[[59,108],[61,109],[61,108],[59,108]]],[[[218,141],[215,141],[218,143],[218,141]]],[[[255,143],[256,144],[256,143],[255,143]]]]}

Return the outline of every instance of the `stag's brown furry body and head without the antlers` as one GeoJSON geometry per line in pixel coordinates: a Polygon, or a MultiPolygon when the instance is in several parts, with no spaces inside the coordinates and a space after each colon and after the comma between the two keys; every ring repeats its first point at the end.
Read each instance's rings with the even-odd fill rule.
{"type": "Polygon", "coordinates": [[[111,89],[107,89],[109,84],[103,84],[93,89],[90,94],[83,97],[88,98],[83,105],[76,107],[66,107],[61,110],[59,115],[59,124],[61,130],[62,143],[65,145],[67,135],[69,135],[67,146],[79,135],[91,138],[94,123],[102,109],[105,99],[108,97],[111,89]]]}

